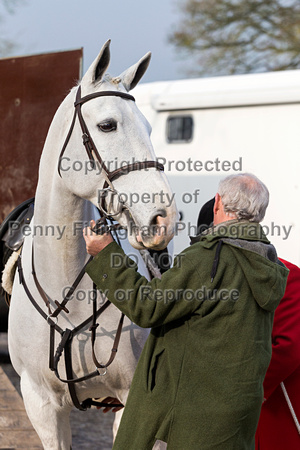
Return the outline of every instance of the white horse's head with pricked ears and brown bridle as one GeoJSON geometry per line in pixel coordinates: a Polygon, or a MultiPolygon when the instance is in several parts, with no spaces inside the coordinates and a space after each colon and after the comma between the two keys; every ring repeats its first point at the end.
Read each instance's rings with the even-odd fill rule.
{"type": "Polygon", "coordinates": [[[74,116],[59,174],[73,194],[126,228],[133,247],[162,249],[174,236],[174,194],[155,159],[151,127],[128,94],[144,75],[151,54],[111,77],[106,73],[109,45],[104,44],[74,88],[74,116]]]}

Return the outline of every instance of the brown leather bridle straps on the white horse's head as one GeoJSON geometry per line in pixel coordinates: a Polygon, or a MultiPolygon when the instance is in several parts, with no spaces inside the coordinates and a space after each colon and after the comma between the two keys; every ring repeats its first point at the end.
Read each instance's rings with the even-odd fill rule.
{"type": "MultiPolygon", "coordinates": [[[[78,87],[77,90],[77,94],[76,94],[76,100],[74,103],[74,107],[75,107],[75,111],[74,111],[74,115],[73,115],[73,119],[72,119],[72,123],[69,129],[69,132],[67,134],[66,140],[63,144],[60,156],[59,156],[59,161],[58,161],[58,173],[61,177],[61,173],[60,173],[60,164],[61,164],[61,159],[62,156],[66,150],[66,147],[68,145],[68,142],[70,140],[70,137],[72,135],[73,129],[74,129],[74,125],[75,125],[75,121],[76,121],[76,117],[78,117],[80,126],[81,126],[81,130],[82,130],[82,141],[83,141],[83,145],[85,147],[87,156],[89,158],[89,160],[91,161],[91,163],[93,165],[95,165],[95,158],[98,160],[100,167],[101,167],[101,171],[104,174],[105,177],[105,182],[103,185],[103,189],[106,189],[108,186],[110,186],[111,190],[113,192],[115,192],[115,189],[113,188],[112,182],[117,179],[118,177],[120,177],[121,175],[125,175],[129,172],[132,172],[134,170],[143,170],[143,169],[149,169],[149,168],[155,168],[157,170],[164,170],[164,166],[159,163],[158,161],[136,161],[132,164],[127,164],[125,166],[119,167],[116,170],[113,170],[112,172],[110,172],[108,170],[108,168],[106,167],[103,159],[101,158],[96,145],[90,135],[90,132],[88,130],[88,127],[84,121],[84,118],[82,116],[82,112],[81,112],[81,106],[90,101],[93,100],[94,98],[97,97],[121,97],[125,100],[132,100],[135,101],[135,98],[130,95],[130,94],[126,94],[125,92],[120,92],[120,91],[101,91],[101,92],[95,92],[93,94],[89,94],[86,95],[85,97],[81,97],[81,86],[78,87]]],[[[104,198],[102,198],[102,202],[104,201],[104,198]]],[[[109,216],[109,214],[107,214],[102,207],[100,208],[102,210],[102,212],[106,215],[109,216]]]]}

